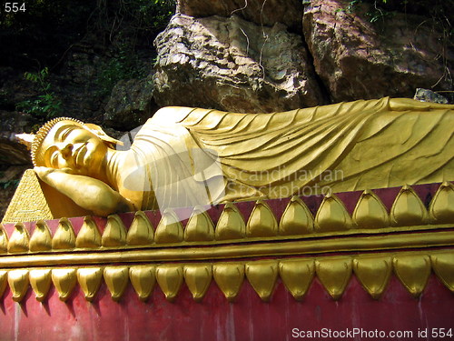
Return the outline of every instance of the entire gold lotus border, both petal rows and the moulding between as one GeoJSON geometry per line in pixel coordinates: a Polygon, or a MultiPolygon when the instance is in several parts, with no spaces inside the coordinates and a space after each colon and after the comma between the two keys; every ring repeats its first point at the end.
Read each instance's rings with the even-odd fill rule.
{"type": "Polygon", "coordinates": [[[183,284],[200,301],[214,280],[233,301],[247,280],[267,301],[280,278],[301,300],[317,277],[333,299],[340,299],[356,276],[378,299],[394,274],[417,297],[432,270],[454,292],[454,249],[442,249],[453,246],[450,183],[439,186],[429,208],[404,186],[390,213],[366,190],[351,216],[338,196],[329,195],[314,216],[294,196],[281,219],[263,200],[247,219],[234,204],[225,205],[216,224],[200,207],[186,226],[172,210],[163,213],[156,228],[140,211],[129,228],[119,216],[109,216],[103,233],[90,216],[84,217],[78,234],[71,221],[62,218],[54,236],[44,221],[36,222],[31,236],[23,223],[15,224],[10,236],[0,225],[0,295],[9,286],[12,299],[21,301],[32,287],[43,302],[54,285],[66,301],[79,285],[92,301],[104,283],[118,301],[131,282],[141,300],[151,296],[157,283],[169,301],[183,284]]]}

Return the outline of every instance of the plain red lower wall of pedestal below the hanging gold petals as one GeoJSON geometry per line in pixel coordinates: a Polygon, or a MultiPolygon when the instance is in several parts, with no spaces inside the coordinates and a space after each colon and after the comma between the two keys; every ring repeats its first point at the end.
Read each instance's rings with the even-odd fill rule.
{"type": "Polygon", "coordinates": [[[31,289],[21,304],[10,296],[7,291],[0,303],[1,340],[274,341],[301,336],[311,340],[439,340],[451,337],[434,337],[440,331],[436,328],[448,328],[445,333],[452,328],[454,333],[454,296],[435,276],[419,299],[391,276],[380,301],[370,298],[354,276],[340,301],[333,301],[317,279],[302,302],[294,300],[279,282],[271,302],[264,303],[246,281],[234,303],[214,283],[202,303],[194,302],[184,285],[174,303],[167,302],[157,286],[145,303],[131,285],[119,303],[110,298],[105,285],[93,303],[85,301],[79,286],[66,303],[59,301],[53,286],[43,304],[35,300],[31,289]],[[422,337],[426,328],[428,335],[422,337]],[[326,337],[307,334],[323,331],[326,337]],[[337,335],[355,331],[362,332],[362,337],[337,335]],[[411,335],[399,337],[391,332],[411,335]]]}

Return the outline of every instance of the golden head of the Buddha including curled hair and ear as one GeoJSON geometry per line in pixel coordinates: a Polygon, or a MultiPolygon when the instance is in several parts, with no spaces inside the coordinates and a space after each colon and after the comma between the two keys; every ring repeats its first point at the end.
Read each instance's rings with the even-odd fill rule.
{"type": "Polygon", "coordinates": [[[78,175],[99,170],[107,148],[120,144],[98,125],[84,124],[74,118],[59,117],[43,125],[31,145],[36,166],[71,169],[78,175]]]}

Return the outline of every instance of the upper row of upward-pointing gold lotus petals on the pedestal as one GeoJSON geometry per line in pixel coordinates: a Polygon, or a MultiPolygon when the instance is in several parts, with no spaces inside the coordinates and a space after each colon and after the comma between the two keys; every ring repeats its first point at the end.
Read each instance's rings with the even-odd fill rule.
{"type": "Polygon", "coordinates": [[[200,207],[195,207],[186,226],[168,209],[154,229],[148,217],[138,211],[129,228],[123,225],[119,216],[109,216],[102,234],[91,216],[84,217],[84,224],[77,235],[67,218],[60,219],[54,236],[42,220],[36,222],[32,236],[29,236],[23,223],[15,224],[11,236],[0,225],[0,256],[40,254],[47,251],[59,253],[63,250],[214,246],[324,236],[380,235],[452,226],[454,186],[445,182],[439,186],[429,209],[410,186],[403,186],[390,213],[378,196],[366,190],[351,216],[338,196],[325,196],[315,216],[311,215],[299,197],[294,196],[284,209],[279,223],[270,206],[263,200],[258,200],[247,221],[231,203],[224,206],[216,224],[200,207]]]}

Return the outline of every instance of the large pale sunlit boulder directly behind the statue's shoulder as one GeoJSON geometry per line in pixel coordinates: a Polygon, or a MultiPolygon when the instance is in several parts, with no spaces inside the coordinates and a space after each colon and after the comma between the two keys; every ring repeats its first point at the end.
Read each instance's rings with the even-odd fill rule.
{"type": "Polygon", "coordinates": [[[175,15],[155,45],[158,105],[271,112],[322,102],[301,36],[282,24],[175,15]]]}

